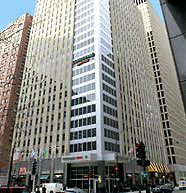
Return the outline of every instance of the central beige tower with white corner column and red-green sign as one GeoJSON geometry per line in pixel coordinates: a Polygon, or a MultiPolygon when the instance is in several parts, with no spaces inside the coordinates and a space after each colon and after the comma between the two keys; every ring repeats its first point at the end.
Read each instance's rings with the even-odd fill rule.
{"type": "Polygon", "coordinates": [[[13,141],[25,152],[19,168],[26,184],[36,158],[38,184],[45,178],[95,190],[99,181],[102,192],[111,191],[114,168],[119,166],[125,181],[125,162],[135,158],[140,141],[151,161],[167,162],[142,16],[134,2],[38,1],[28,56],[13,141]]]}

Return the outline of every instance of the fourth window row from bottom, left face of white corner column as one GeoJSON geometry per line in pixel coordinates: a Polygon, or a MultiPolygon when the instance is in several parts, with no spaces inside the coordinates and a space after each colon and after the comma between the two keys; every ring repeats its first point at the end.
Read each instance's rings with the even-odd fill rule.
{"type": "Polygon", "coordinates": [[[92,112],[96,112],[96,105],[95,104],[81,107],[79,109],[71,110],[71,117],[84,115],[84,114],[92,113],[92,112]]]}

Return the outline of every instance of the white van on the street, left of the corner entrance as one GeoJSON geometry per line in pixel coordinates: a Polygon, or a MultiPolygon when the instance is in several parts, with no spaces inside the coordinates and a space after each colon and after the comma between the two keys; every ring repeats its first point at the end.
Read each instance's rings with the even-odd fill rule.
{"type": "Polygon", "coordinates": [[[61,183],[43,183],[39,188],[41,193],[44,186],[46,188],[46,193],[61,193],[63,191],[63,184],[61,183]]]}

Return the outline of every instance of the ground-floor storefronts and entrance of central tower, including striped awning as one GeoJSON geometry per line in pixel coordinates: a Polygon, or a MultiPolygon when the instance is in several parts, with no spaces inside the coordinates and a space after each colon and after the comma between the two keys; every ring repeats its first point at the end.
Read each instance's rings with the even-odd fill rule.
{"type": "MultiPolygon", "coordinates": [[[[141,175],[143,168],[137,165],[136,160],[119,156],[119,159],[113,157],[110,161],[108,159],[98,161],[93,155],[40,160],[37,166],[36,185],[59,182],[68,187],[78,187],[86,192],[97,193],[100,189],[104,189],[104,192],[114,192],[116,187],[125,191],[138,190],[145,180],[148,184],[161,184],[174,180],[174,175],[167,168],[165,170],[165,167],[157,164],[151,164],[146,168],[148,175],[144,178],[141,175]],[[154,165],[156,167],[153,167],[154,165]]],[[[13,167],[14,185],[32,187],[31,163],[31,161],[20,162],[13,167]]]]}

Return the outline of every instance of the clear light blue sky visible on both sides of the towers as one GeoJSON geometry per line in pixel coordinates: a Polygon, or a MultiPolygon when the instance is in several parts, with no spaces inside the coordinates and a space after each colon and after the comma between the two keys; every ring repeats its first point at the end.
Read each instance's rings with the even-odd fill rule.
{"type": "MultiPolygon", "coordinates": [[[[1,0],[0,6],[0,31],[8,24],[28,12],[34,15],[36,0],[1,0]]],[[[163,20],[159,0],[150,0],[152,6],[163,20]]]]}

